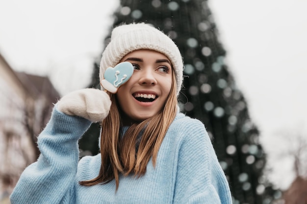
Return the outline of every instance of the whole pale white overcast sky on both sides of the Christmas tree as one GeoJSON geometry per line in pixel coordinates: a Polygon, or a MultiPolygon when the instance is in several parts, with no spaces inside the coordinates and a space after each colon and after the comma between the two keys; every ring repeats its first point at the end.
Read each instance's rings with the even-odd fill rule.
{"type": "MultiPolygon", "coordinates": [[[[265,150],[286,151],[287,146],[278,145],[282,143],[278,131],[294,134],[302,129],[307,135],[302,128],[307,126],[307,1],[208,2],[230,71],[248,101],[265,150]]],[[[49,75],[61,94],[82,89],[91,78],[93,61],[102,53],[118,3],[1,0],[0,53],[15,70],[49,75]]],[[[276,171],[277,185],[289,185],[290,170],[276,171]]]]}

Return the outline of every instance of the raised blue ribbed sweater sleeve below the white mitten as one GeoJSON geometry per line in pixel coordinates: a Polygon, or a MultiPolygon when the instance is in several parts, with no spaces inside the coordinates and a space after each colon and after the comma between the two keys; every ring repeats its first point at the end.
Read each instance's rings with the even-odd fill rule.
{"type": "Polygon", "coordinates": [[[22,173],[11,204],[69,204],[74,199],[77,173],[77,140],[91,122],[53,109],[51,119],[38,137],[38,160],[22,173]]]}

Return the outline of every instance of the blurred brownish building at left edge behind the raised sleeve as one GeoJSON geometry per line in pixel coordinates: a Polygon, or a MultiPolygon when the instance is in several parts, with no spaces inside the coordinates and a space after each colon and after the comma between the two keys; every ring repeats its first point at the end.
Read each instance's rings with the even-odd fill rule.
{"type": "Polygon", "coordinates": [[[15,72],[0,55],[0,201],[37,159],[37,136],[59,98],[48,77],[15,72]]]}

